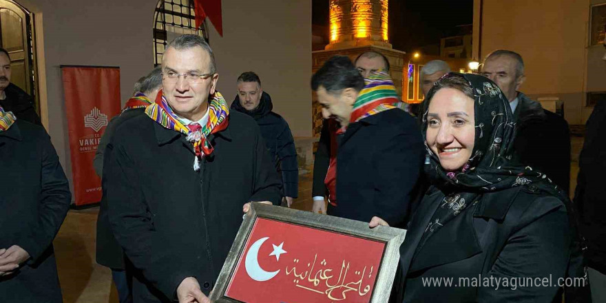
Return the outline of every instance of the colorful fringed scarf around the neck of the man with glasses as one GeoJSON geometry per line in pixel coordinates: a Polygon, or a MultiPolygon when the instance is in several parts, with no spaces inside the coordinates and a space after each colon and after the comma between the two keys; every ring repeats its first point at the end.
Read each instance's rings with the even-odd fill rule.
{"type": "Polygon", "coordinates": [[[199,130],[192,132],[181,123],[161,92],[158,93],[156,102],[145,109],[145,114],[163,127],[187,135],[187,140],[194,144],[194,151],[196,152],[194,170],[198,171],[202,157],[213,152],[213,147],[207,140],[208,135],[227,128],[229,123],[227,120],[227,116],[229,116],[227,102],[219,92],[215,92],[213,98],[209,100],[209,117],[206,125],[201,125],[199,130]]]}

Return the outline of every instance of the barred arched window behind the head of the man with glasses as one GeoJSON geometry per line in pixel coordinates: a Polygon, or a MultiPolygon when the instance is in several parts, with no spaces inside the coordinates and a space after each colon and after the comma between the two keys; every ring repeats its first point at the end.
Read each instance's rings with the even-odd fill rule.
{"type": "Polygon", "coordinates": [[[194,0],[160,0],[154,13],[154,60],[162,63],[169,41],[182,34],[198,34],[208,42],[206,21],[196,28],[194,0]]]}

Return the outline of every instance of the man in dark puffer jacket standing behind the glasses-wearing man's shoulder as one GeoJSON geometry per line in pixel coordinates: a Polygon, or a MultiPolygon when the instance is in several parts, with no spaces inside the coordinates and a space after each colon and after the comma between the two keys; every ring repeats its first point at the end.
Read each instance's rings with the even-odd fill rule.
{"type": "Polygon", "coordinates": [[[288,207],[291,207],[293,199],[297,198],[299,169],[295,140],[289,123],[271,111],[271,97],[262,90],[261,79],[257,74],[244,72],[236,83],[238,94],[231,103],[231,109],[247,114],[257,121],[273,163],[282,173],[284,200],[288,207]]]}

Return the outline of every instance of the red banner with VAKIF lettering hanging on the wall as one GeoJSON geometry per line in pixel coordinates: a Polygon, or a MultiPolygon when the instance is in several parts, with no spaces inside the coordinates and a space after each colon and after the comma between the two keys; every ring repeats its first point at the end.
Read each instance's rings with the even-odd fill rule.
{"type": "Polygon", "coordinates": [[[109,119],[120,112],[120,68],[61,66],[76,205],[101,200],[95,151],[109,119]]]}

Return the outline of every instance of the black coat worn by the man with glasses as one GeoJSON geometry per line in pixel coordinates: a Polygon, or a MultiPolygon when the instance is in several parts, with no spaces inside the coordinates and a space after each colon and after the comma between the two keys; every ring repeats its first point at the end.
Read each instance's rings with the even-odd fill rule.
{"type": "Polygon", "coordinates": [[[148,116],[123,123],[105,150],[109,222],[136,271],[135,302],[170,302],[184,278],[209,293],[242,224],[242,205],[282,198],[255,121],[231,112],[194,171],[185,135],[148,116]]]}

